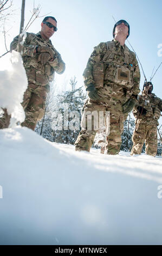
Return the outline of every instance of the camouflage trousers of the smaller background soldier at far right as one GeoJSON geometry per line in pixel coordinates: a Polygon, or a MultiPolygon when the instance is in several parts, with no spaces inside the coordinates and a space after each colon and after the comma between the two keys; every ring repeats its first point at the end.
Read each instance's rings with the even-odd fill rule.
{"type": "Polygon", "coordinates": [[[155,121],[149,123],[137,122],[136,130],[132,136],[133,147],[131,155],[141,154],[142,147],[146,145],[145,151],[147,155],[155,156],[157,154],[157,124],[155,121]]]}

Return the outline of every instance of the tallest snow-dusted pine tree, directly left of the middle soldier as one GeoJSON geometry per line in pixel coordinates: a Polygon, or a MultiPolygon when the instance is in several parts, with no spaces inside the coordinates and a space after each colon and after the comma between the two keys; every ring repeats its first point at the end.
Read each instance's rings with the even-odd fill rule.
{"type": "Polygon", "coordinates": [[[62,130],[54,130],[53,137],[57,143],[74,144],[80,131],[81,109],[86,98],[82,87],[76,89],[76,77],[70,79],[72,90],[59,95],[59,113],[62,130]],[[75,129],[76,127],[76,129],[75,129]]]}

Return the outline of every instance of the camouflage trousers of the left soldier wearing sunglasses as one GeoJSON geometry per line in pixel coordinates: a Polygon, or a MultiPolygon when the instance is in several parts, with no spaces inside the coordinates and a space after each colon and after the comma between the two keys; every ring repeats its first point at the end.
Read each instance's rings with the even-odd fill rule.
{"type": "MultiPolygon", "coordinates": [[[[35,130],[37,121],[41,120],[44,115],[44,108],[48,92],[48,85],[37,86],[36,84],[28,84],[28,88],[24,93],[24,99],[22,102],[22,106],[25,111],[25,120],[21,124],[22,126],[26,126],[32,130],[35,130]]],[[[0,129],[7,128],[9,122],[10,115],[7,114],[5,109],[3,118],[0,118],[0,129]]]]}

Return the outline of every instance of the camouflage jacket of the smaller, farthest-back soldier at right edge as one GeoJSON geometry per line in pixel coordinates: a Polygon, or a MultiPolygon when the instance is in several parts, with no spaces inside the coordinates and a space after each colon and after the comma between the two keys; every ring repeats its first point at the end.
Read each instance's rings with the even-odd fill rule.
{"type": "Polygon", "coordinates": [[[162,111],[162,100],[154,93],[146,95],[142,92],[139,95],[138,102],[133,108],[133,115],[138,118],[138,122],[150,124],[152,121],[158,124],[160,118],[160,112],[162,111]]]}

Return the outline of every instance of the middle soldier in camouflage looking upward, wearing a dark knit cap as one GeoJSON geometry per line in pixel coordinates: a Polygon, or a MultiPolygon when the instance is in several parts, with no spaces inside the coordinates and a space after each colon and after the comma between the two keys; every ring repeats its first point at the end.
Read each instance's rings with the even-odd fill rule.
{"type": "MultiPolygon", "coordinates": [[[[113,29],[114,40],[101,42],[94,47],[86,69],[83,72],[88,101],[84,105],[82,117],[88,120],[90,112],[110,112],[110,132],[106,136],[105,154],[118,154],[121,145],[125,115],[128,114],[140,92],[140,71],[135,54],[125,45],[129,36],[129,25],[126,21],[116,22],[113,29]]],[[[82,127],[81,122],[81,127],[82,127]]],[[[108,122],[106,122],[108,123],[108,122]]],[[[97,130],[82,127],[75,142],[75,150],[90,151],[97,130]]],[[[106,130],[108,131],[107,127],[106,130]]]]}

